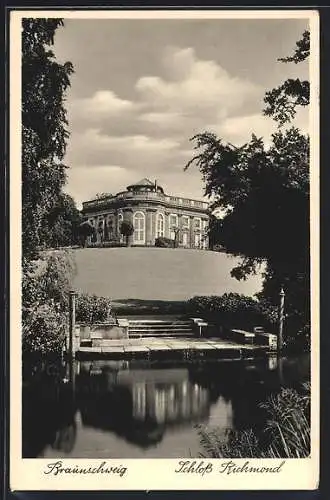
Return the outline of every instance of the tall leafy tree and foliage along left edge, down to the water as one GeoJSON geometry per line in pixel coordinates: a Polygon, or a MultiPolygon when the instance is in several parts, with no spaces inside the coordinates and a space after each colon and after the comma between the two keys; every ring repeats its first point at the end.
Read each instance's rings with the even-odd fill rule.
{"type": "MultiPolygon", "coordinates": [[[[22,20],[22,347],[23,353],[61,353],[67,329],[72,266],[66,252],[38,255],[49,238],[69,230],[63,195],[68,139],[64,99],[72,64],[49,47],[62,19],[22,20]],[[57,207],[61,214],[57,213],[57,207]],[[61,215],[61,216],[60,216],[61,215]],[[52,221],[52,217],[54,220],[52,221]],[[49,231],[47,230],[50,230],[49,231]],[[39,260],[34,260],[39,257],[39,260]]],[[[72,208],[72,204],[71,204],[72,208]]]]}

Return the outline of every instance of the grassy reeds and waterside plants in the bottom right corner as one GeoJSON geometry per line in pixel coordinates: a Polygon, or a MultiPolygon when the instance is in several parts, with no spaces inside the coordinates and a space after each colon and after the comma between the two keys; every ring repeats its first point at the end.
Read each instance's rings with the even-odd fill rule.
{"type": "MultiPolygon", "coordinates": [[[[310,455],[310,386],[303,393],[282,388],[260,404],[268,419],[260,432],[199,426],[205,455],[210,458],[304,458],[310,455]]],[[[205,456],[202,454],[202,456],[205,456]]]]}

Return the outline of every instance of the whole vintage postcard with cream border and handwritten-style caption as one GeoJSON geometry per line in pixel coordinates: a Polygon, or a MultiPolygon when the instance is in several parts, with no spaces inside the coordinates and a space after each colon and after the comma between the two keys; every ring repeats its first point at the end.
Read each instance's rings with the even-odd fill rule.
{"type": "Polygon", "coordinates": [[[10,12],[10,487],[319,481],[319,18],[10,12]]]}

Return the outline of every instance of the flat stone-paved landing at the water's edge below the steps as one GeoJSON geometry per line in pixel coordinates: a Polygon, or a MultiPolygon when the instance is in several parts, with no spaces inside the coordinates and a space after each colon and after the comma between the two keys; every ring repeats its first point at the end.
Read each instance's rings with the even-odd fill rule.
{"type": "Polygon", "coordinates": [[[77,359],[241,359],[265,356],[268,346],[244,345],[219,338],[141,338],[82,343],[77,359]]]}

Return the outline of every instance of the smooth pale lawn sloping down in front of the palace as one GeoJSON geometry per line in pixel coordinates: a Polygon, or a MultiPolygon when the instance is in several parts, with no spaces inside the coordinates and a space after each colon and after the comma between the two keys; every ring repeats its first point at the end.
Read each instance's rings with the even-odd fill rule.
{"type": "Polygon", "coordinates": [[[183,301],[225,292],[253,295],[261,276],[237,281],[230,270],[237,258],[224,253],[165,248],[86,248],[75,250],[79,291],[118,303],[183,301]]]}

